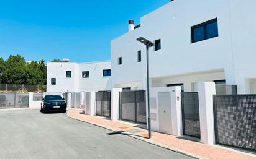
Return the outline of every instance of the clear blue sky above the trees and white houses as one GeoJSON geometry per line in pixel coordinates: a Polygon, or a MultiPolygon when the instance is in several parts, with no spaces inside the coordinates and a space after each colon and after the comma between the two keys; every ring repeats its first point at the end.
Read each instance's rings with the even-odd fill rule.
{"type": "Polygon", "coordinates": [[[128,20],[137,25],[140,17],[169,1],[0,0],[0,57],[108,60],[110,42],[127,32],[128,20]]]}

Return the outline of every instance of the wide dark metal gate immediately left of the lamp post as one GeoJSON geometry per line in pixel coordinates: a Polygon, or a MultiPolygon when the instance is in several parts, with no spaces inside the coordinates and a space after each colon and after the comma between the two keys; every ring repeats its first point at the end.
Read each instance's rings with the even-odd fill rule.
{"type": "Polygon", "coordinates": [[[120,92],[120,119],[147,123],[145,90],[120,92]]]}

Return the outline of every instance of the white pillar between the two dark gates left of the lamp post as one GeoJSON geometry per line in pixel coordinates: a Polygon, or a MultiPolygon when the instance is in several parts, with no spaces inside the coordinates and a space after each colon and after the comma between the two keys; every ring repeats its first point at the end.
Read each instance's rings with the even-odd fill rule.
{"type": "Polygon", "coordinates": [[[111,120],[119,120],[119,93],[122,88],[113,88],[111,91],[111,120]]]}

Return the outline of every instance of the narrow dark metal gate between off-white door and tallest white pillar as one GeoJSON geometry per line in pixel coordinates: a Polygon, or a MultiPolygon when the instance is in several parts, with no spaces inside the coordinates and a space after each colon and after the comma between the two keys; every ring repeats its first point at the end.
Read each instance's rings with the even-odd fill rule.
{"type": "Polygon", "coordinates": [[[201,137],[198,92],[181,93],[183,135],[201,137]]]}

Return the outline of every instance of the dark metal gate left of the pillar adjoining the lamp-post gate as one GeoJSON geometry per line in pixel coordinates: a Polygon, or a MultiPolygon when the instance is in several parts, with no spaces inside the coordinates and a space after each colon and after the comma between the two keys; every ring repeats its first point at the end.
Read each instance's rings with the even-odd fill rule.
{"type": "Polygon", "coordinates": [[[96,92],[96,116],[111,117],[111,91],[96,92]]]}

